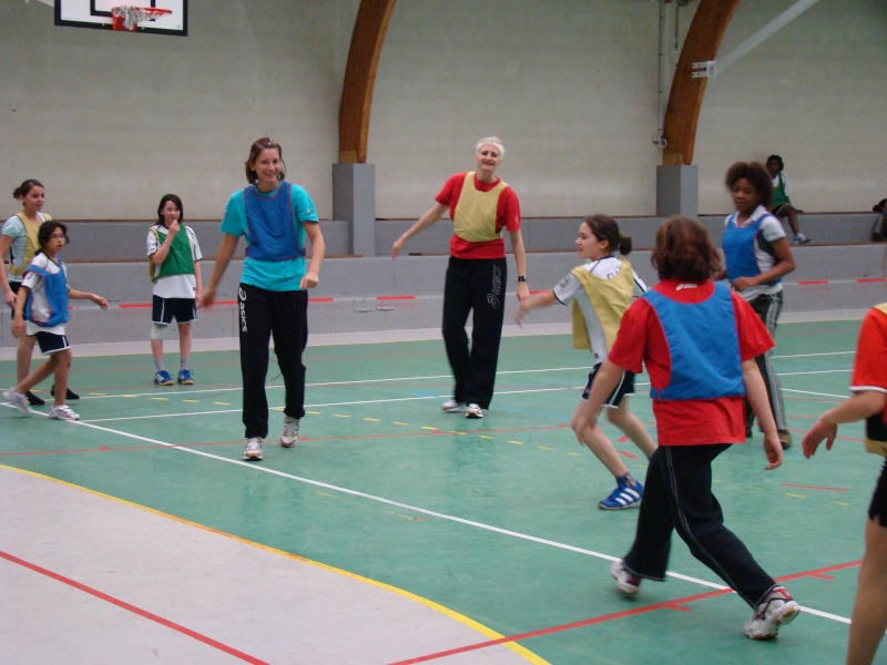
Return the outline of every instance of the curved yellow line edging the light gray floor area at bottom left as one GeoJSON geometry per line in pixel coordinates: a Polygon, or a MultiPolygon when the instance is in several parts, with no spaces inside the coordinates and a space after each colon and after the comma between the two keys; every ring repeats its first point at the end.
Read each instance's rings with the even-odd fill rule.
{"type": "MultiPolygon", "coordinates": [[[[206,531],[207,533],[213,533],[215,535],[221,535],[223,538],[231,539],[231,540],[236,541],[238,543],[243,543],[245,545],[251,545],[253,548],[257,548],[259,550],[264,550],[265,552],[269,552],[271,554],[278,554],[281,556],[285,556],[286,559],[290,559],[293,561],[298,561],[300,563],[305,563],[307,565],[315,566],[315,567],[318,567],[320,570],[325,570],[325,571],[328,571],[330,573],[335,573],[337,575],[343,575],[345,577],[349,577],[349,579],[355,580],[357,582],[363,582],[365,584],[369,584],[370,586],[376,586],[376,587],[383,589],[385,591],[390,591],[391,593],[395,593],[395,594],[397,594],[397,595],[399,595],[401,597],[405,597],[407,600],[410,600],[410,601],[414,601],[414,602],[419,603],[421,605],[425,605],[426,607],[429,607],[429,608],[434,610],[435,612],[439,612],[443,616],[447,616],[447,617],[449,617],[449,618],[451,618],[453,621],[457,621],[457,622],[461,623],[462,625],[468,626],[469,628],[480,633],[481,635],[483,635],[486,637],[489,637],[490,640],[503,640],[503,638],[506,638],[506,635],[501,635],[500,633],[497,633],[492,628],[489,628],[489,627],[485,626],[483,624],[476,622],[473,618],[469,618],[468,616],[465,616],[463,614],[460,614],[460,613],[456,612],[455,610],[450,610],[449,607],[447,607],[445,605],[441,605],[440,603],[436,603],[435,601],[431,601],[429,598],[422,597],[420,595],[417,595],[417,594],[415,594],[412,592],[406,591],[406,590],[400,589],[398,586],[392,586],[392,585],[386,584],[384,582],[378,582],[376,580],[370,580],[369,577],[364,577],[363,575],[358,575],[357,573],[351,573],[350,571],[346,571],[346,570],[343,570],[343,569],[337,569],[337,567],[334,567],[332,565],[328,565],[326,563],[320,563],[319,561],[314,561],[312,559],[306,559],[306,557],[299,556],[297,554],[290,554],[289,552],[284,552],[283,550],[278,550],[277,548],[271,548],[268,545],[263,545],[262,543],[257,543],[255,541],[251,541],[251,540],[247,540],[245,538],[241,538],[239,535],[234,535],[233,533],[226,533],[224,531],[220,531],[218,529],[213,529],[212,526],[206,526],[204,524],[198,524],[197,522],[192,522],[191,520],[185,520],[184,518],[179,518],[176,515],[172,515],[170,513],[156,510],[154,508],[149,508],[147,505],[142,505],[140,503],[133,503],[132,501],[126,501],[125,499],[120,499],[118,497],[112,497],[111,494],[105,494],[104,492],[99,492],[96,490],[91,490],[89,488],[84,488],[82,485],[73,484],[73,483],[64,481],[64,480],[59,480],[58,478],[51,478],[49,475],[44,475],[43,473],[37,473],[34,471],[28,471],[27,469],[17,469],[16,467],[8,467],[6,464],[0,464],[0,469],[9,469],[11,471],[17,471],[19,473],[26,473],[26,474],[32,475],[34,478],[41,478],[43,480],[49,480],[51,482],[54,482],[54,483],[58,483],[58,484],[61,484],[61,485],[64,485],[64,487],[68,487],[68,488],[74,489],[74,490],[80,490],[80,491],[86,492],[89,494],[92,494],[94,497],[99,497],[101,499],[110,499],[111,501],[115,501],[118,503],[122,503],[122,504],[129,505],[131,508],[136,508],[139,510],[143,510],[143,511],[153,513],[155,515],[159,515],[161,518],[166,518],[169,520],[173,520],[175,522],[179,522],[180,524],[185,524],[186,526],[194,526],[195,529],[200,529],[202,531],[206,531]]],[[[526,648],[526,647],[523,647],[520,644],[517,644],[514,642],[502,642],[501,646],[504,646],[506,648],[508,648],[508,649],[514,652],[516,654],[522,656],[523,658],[527,659],[527,662],[532,663],[533,665],[550,665],[550,663],[548,661],[544,661],[543,658],[540,658],[534,653],[532,653],[530,649],[528,649],[528,648],[526,648]]]]}

